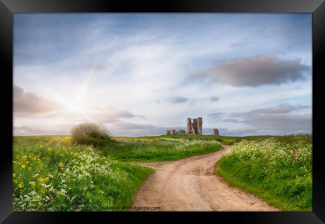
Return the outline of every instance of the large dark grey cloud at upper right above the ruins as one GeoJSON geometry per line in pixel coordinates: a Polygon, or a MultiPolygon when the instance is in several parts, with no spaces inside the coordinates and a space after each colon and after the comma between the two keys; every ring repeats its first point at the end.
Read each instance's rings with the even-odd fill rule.
{"type": "Polygon", "coordinates": [[[214,82],[236,87],[255,87],[305,80],[303,73],[309,70],[310,67],[299,60],[279,60],[269,55],[218,62],[194,77],[210,78],[214,82]]]}

